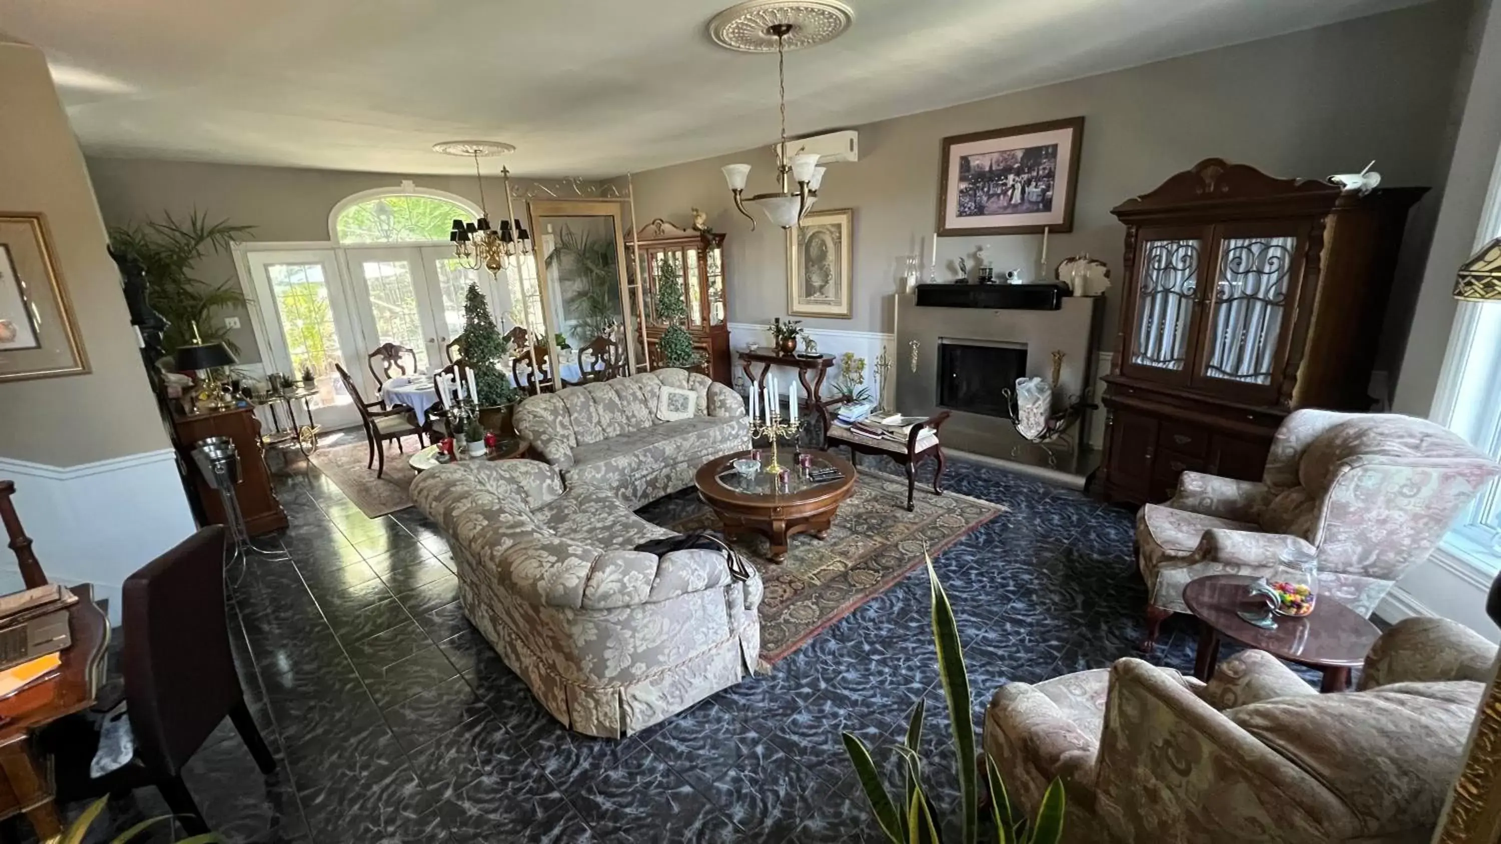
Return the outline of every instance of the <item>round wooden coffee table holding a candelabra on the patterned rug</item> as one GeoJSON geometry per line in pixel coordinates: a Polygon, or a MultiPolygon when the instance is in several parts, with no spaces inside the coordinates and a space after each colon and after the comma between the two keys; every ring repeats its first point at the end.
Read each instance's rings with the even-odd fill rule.
{"type": "MultiPolygon", "coordinates": [[[[803,480],[793,465],[788,492],[776,492],[776,477],[772,474],[760,471],[746,478],[731,468],[731,462],[750,456],[749,451],[737,451],[704,463],[693,475],[693,483],[698,486],[698,496],[719,516],[725,535],[761,534],[772,543],[772,562],[784,562],[787,540],[794,534],[824,538],[839,505],[854,492],[854,466],[848,460],[827,451],[808,454],[812,454],[815,468],[833,466],[844,477],[815,484],[803,480]]],[[[784,451],[779,459],[796,463],[791,451],[784,451]]],[[[767,462],[764,450],[761,460],[763,465],[767,462]]]]}

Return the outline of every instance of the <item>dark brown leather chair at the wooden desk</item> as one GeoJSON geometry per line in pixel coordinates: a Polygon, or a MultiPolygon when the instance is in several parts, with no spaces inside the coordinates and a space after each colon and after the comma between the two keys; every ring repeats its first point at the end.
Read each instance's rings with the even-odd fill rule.
{"type": "MultiPolygon", "coordinates": [[[[209,831],[182,772],[228,715],[263,774],[276,760],[261,738],[230,652],[224,609],[224,526],[204,528],[126,579],[122,595],[126,714],[135,756],[99,780],[89,763],[98,733],[81,718],[45,736],[63,799],[155,786],[188,835],[209,831]]],[[[96,709],[117,700],[101,700],[96,709]]]]}

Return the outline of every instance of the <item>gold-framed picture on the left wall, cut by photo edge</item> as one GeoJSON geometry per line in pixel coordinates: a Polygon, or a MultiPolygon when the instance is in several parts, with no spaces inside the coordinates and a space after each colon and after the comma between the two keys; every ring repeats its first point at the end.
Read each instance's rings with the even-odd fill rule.
{"type": "Polygon", "coordinates": [[[89,372],[47,217],[0,211],[0,381],[89,372]]]}

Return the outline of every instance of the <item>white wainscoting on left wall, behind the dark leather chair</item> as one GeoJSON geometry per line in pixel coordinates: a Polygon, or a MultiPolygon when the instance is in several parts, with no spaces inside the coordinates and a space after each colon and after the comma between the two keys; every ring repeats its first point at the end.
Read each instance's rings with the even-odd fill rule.
{"type": "MultiPolygon", "coordinates": [[[[12,501],[47,577],[93,583],[113,624],[125,579],[198,529],[171,448],[80,466],[0,457],[0,478],[15,481],[12,501]]],[[[0,567],[0,591],[20,588],[15,565],[0,567]]]]}

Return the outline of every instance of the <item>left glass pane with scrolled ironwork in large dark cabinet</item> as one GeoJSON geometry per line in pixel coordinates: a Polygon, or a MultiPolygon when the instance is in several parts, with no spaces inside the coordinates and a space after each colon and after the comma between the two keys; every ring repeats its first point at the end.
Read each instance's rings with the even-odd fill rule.
{"type": "Polygon", "coordinates": [[[1142,244],[1133,364],[1183,369],[1198,288],[1198,240],[1148,240],[1142,244]]]}

